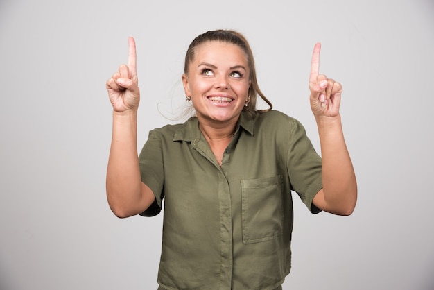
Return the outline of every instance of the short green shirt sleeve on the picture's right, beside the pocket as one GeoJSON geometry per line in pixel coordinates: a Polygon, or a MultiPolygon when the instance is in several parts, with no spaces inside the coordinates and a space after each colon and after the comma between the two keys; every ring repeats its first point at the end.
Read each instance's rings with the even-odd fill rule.
{"type": "Polygon", "coordinates": [[[293,119],[288,148],[288,175],[291,188],[313,214],[321,212],[312,201],[322,189],[321,157],[316,153],[302,124],[293,119]]]}

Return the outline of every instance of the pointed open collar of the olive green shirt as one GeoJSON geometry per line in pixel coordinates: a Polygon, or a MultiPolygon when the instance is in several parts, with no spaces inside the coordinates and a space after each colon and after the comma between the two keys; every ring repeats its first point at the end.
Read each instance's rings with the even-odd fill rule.
{"type": "MultiPolygon", "coordinates": [[[[254,121],[255,117],[252,117],[248,112],[241,112],[240,119],[238,119],[238,127],[243,128],[250,135],[254,133],[254,121]]],[[[173,141],[186,141],[191,142],[194,139],[200,139],[202,133],[199,129],[198,117],[191,117],[173,135],[173,141]]]]}

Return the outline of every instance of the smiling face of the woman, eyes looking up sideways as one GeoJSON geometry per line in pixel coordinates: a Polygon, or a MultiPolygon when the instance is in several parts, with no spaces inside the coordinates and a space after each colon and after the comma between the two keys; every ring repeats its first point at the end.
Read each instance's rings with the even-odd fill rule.
{"type": "Polygon", "coordinates": [[[182,82],[200,122],[232,123],[247,101],[249,76],[247,56],[240,47],[211,41],[196,48],[182,82]]]}

